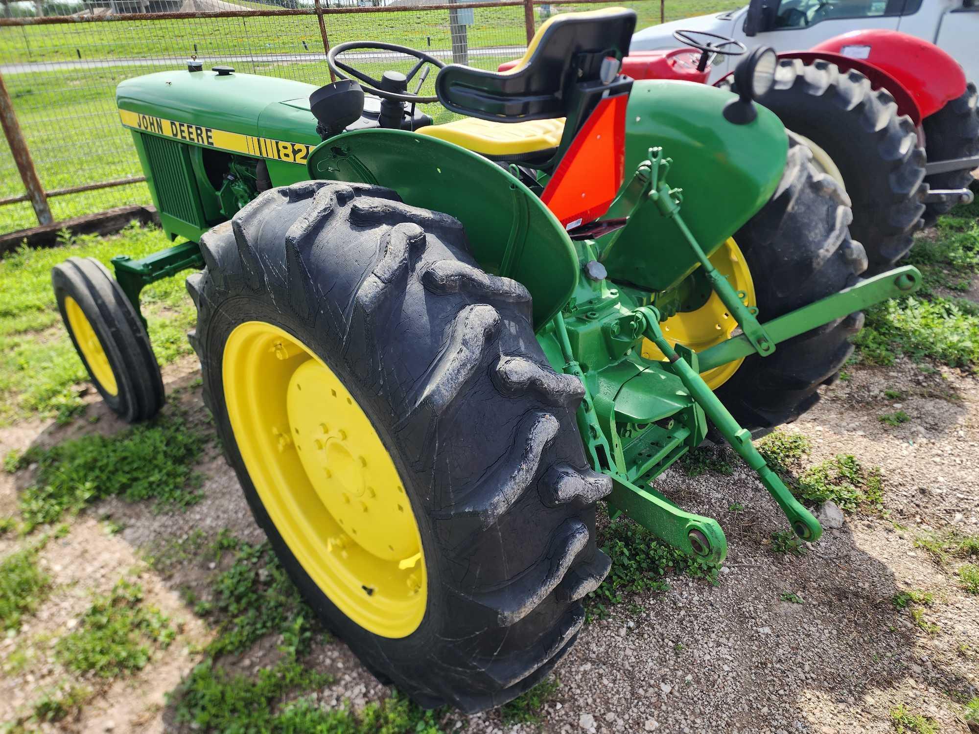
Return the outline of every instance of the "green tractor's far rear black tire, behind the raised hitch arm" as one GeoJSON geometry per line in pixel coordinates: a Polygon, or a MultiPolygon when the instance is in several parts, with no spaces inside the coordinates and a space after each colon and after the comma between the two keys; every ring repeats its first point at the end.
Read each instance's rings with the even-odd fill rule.
{"type": "MultiPolygon", "coordinates": [[[[790,140],[788,160],[769,203],[734,234],[752,274],[764,323],[855,285],[866,253],[850,238],[846,192],[812,165],[809,149],[790,140]]],[[[853,353],[862,312],[752,354],[716,390],[738,423],[755,436],[791,423],[816,405],[853,353]]]]}

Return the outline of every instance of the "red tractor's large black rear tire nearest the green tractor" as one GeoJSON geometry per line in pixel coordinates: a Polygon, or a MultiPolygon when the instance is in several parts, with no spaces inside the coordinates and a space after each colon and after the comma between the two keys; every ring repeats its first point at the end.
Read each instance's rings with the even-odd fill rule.
{"type": "MultiPolygon", "coordinates": [[[[737,91],[731,77],[719,86],[737,91]]],[[[893,267],[924,225],[926,191],[924,151],[894,98],[874,91],[859,71],[780,59],[774,84],[757,102],[816,143],[839,169],[853,208],[850,231],[866,251],[866,275],[893,267]]]]}

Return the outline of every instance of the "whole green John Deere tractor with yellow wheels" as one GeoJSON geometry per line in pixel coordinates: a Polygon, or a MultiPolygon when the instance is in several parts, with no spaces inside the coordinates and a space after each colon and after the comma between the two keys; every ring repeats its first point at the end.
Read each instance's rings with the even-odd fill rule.
{"type": "Polygon", "coordinates": [[[609,570],[599,499],[723,561],[718,523],[650,487],[709,425],[818,538],[752,434],[815,402],[862,307],[920,282],[859,279],[846,195],[752,102],[769,50],[740,97],[633,84],[634,24],[558,16],[506,73],[346,43],[319,89],[199,63],[129,79],[119,115],[187,241],[115,278],[54,271],[92,380],[136,421],[163,402],[140,289],[195,270],[190,340],[258,524],[424,706],[500,705],[568,650],[609,570]],[[411,68],[372,77],[378,49],[411,68]],[[431,124],[415,105],[436,98],[468,116],[431,124]]]}

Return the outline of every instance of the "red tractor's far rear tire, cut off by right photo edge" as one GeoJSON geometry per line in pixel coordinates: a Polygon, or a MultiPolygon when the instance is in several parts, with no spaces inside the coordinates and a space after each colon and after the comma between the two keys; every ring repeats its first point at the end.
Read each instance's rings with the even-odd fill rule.
{"type": "MultiPolygon", "coordinates": [[[[948,161],[979,155],[979,93],[976,85],[969,82],[960,97],[946,103],[934,115],[925,117],[924,146],[929,161],[948,161]]],[[[935,173],[925,178],[932,189],[964,189],[973,181],[972,172],[954,170],[935,173]]],[[[925,222],[933,224],[939,215],[950,211],[954,202],[929,204],[925,208],[925,222]]]]}

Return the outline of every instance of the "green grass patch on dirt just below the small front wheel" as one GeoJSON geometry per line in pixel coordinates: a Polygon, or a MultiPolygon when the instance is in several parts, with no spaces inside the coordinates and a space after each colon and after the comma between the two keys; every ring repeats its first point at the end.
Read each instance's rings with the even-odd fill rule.
{"type": "Polygon", "coordinates": [[[23,529],[54,523],[65,512],[109,496],[171,506],[197,502],[194,462],[206,440],[182,417],[166,413],[114,436],[31,448],[20,458],[23,467],[37,464],[34,481],[19,497],[23,529]]]}

